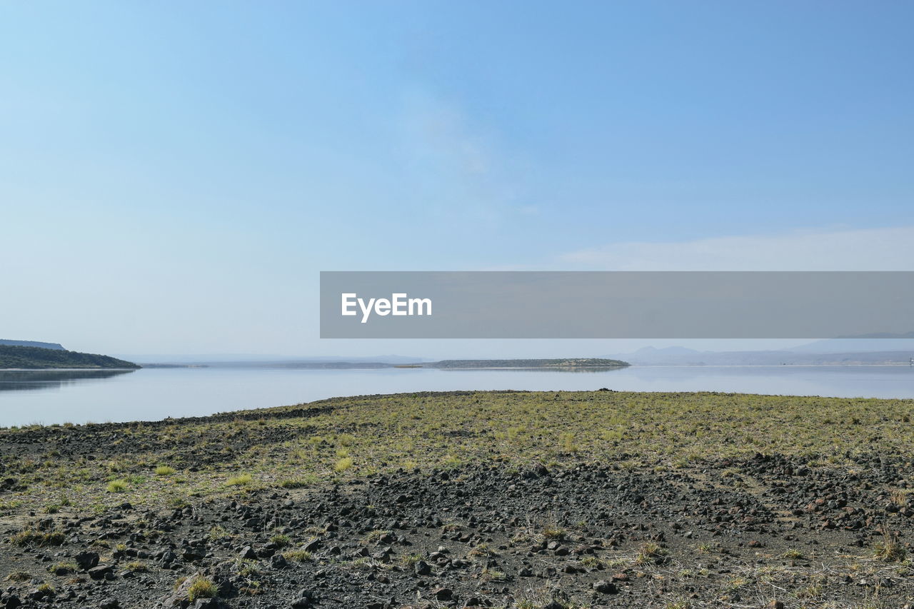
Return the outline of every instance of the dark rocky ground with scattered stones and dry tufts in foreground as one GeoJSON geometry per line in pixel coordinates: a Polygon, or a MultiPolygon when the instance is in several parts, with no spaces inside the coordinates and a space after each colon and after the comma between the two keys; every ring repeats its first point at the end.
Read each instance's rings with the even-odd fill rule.
{"type": "MultiPolygon", "coordinates": [[[[106,433],[77,427],[69,449],[100,458],[111,444],[90,438],[106,433]]],[[[7,433],[0,447],[38,454],[55,434],[7,433]]],[[[577,456],[418,465],[169,507],[24,504],[0,518],[0,607],[914,606],[908,454],[676,469],[577,456]]],[[[216,459],[197,457],[192,468],[216,459]]],[[[0,482],[0,497],[21,491],[15,476],[0,482]]]]}

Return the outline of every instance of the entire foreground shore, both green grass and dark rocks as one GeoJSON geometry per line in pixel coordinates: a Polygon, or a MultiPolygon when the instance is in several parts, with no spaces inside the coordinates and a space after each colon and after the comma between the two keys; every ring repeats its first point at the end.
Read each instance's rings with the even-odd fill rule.
{"type": "Polygon", "coordinates": [[[333,609],[897,608],[914,603],[912,411],[467,391],[10,428],[0,579],[142,606],[197,588],[274,606],[312,582],[333,609]]]}

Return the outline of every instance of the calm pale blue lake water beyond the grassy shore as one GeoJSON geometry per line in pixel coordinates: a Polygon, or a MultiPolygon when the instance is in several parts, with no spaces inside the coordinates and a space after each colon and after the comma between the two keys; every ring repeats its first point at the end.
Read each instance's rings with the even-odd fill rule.
{"type": "Polygon", "coordinates": [[[0,371],[0,426],[152,421],[333,396],[422,390],[740,391],[914,398],[914,368],[652,367],[555,370],[140,369],[0,371]]]}

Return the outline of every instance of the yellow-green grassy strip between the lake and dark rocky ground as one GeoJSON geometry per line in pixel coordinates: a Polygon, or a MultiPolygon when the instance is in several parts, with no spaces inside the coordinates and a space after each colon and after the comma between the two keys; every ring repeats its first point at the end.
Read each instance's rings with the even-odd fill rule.
{"type": "Polygon", "coordinates": [[[914,454],[914,402],[718,393],[461,392],[319,401],[173,422],[0,431],[0,513],[310,486],[378,472],[579,463],[685,468],[752,454],[853,468],[914,454]],[[172,471],[174,470],[174,471],[172,471]]]}

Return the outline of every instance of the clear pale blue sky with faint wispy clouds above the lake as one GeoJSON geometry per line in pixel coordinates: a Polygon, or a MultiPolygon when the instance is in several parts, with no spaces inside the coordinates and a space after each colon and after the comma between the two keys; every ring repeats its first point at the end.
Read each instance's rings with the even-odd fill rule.
{"type": "Polygon", "coordinates": [[[0,337],[586,356],[640,344],[321,340],[318,273],[912,270],[911,23],[890,0],[0,2],[0,337]]]}

